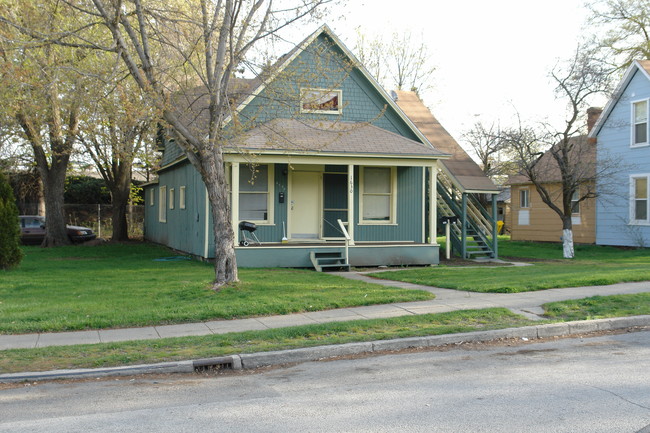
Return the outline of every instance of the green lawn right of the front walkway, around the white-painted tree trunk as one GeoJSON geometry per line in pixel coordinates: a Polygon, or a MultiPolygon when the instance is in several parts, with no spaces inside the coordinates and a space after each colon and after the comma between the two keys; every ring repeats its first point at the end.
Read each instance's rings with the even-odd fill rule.
{"type": "Polygon", "coordinates": [[[562,259],[562,245],[499,241],[499,256],[534,266],[413,268],[372,276],[473,292],[514,293],[556,287],[650,280],[650,250],[578,245],[574,259],[562,259]]]}

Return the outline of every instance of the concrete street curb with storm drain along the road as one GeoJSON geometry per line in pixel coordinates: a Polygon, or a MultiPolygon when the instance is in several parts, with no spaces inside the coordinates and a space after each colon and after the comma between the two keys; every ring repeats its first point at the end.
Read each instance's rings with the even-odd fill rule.
{"type": "Polygon", "coordinates": [[[650,326],[650,315],[549,323],[522,328],[506,328],[428,337],[398,338],[394,340],[379,340],[363,343],[334,344],[329,346],[316,346],[197,359],[193,361],[162,362],[158,364],[110,368],[84,368],[74,370],[10,373],[0,375],[0,383],[130,376],[152,373],[192,373],[202,369],[255,369],[260,367],[319,361],[340,356],[363,355],[374,352],[391,352],[404,349],[485,342],[509,338],[536,340],[540,338],[564,337],[569,335],[586,334],[589,332],[611,331],[643,326],[650,326]]]}

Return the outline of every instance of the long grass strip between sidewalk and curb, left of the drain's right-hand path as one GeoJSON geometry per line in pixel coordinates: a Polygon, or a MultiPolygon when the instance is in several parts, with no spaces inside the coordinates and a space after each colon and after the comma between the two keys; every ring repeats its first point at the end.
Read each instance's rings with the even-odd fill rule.
{"type": "MultiPolygon", "coordinates": [[[[539,322],[535,322],[539,323],[539,322]]],[[[531,324],[502,308],[358,320],[201,337],[2,351],[0,373],[99,368],[293,349],[326,344],[441,335],[531,324]]]]}

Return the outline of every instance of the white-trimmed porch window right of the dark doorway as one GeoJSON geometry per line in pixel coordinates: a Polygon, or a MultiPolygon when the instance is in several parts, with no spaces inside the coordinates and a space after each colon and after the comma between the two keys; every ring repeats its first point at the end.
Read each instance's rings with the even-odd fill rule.
{"type": "Polygon", "coordinates": [[[395,167],[361,167],[361,222],[387,224],[395,221],[395,167]]]}

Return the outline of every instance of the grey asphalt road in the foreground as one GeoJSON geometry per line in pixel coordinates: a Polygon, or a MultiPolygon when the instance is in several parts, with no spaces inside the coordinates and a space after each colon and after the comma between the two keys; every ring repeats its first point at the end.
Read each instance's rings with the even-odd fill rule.
{"type": "Polygon", "coordinates": [[[650,331],[0,390],[0,432],[650,432],[650,331]]]}

